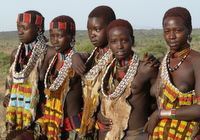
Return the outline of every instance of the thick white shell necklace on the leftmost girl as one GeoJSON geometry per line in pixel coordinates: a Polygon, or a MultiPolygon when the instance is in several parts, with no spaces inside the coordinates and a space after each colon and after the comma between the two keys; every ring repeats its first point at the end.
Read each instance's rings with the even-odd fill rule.
{"type": "Polygon", "coordinates": [[[16,71],[17,60],[20,55],[20,50],[22,49],[23,44],[21,43],[18,47],[17,53],[15,55],[15,60],[13,63],[12,74],[14,83],[23,83],[25,78],[29,76],[33,70],[37,60],[47,51],[46,41],[43,35],[37,37],[37,42],[33,47],[31,56],[28,60],[27,65],[24,66],[19,72],[16,71]]]}

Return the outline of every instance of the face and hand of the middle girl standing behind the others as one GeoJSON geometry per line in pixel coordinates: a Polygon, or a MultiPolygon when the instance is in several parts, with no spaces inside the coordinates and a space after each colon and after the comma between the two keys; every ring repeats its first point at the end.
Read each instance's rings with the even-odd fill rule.
{"type": "MultiPolygon", "coordinates": [[[[103,17],[89,17],[87,22],[88,36],[94,47],[103,49],[107,47],[107,37],[106,37],[106,27],[107,24],[103,17]]],[[[101,52],[101,51],[100,51],[101,52]]],[[[99,58],[103,56],[104,53],[99,54],[99,58]]],[[[75,54],[72,56],[72,67],[78,75],[83,76],[86,72],[86,66],[84,63],[84,56],[80,54],[75,54]]]]}

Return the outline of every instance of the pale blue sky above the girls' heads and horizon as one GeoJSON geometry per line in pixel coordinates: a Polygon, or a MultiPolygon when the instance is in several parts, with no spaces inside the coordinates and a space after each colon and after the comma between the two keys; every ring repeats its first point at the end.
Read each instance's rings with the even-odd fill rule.
{"type": "Polygon", "coordinates": [[[200,0],[4,0],[0,8],[0,31],[16,30],[18,13],[38,10],[45,17],[45,28],[56,16],[74,18],[78,30],[85,30],[87,16],[99,5],[113,8],[117,18],[130,21],[135,29],[161,28],[166,10],[175,6],[187,8],[194,28],[200,28],[200,0]]]}

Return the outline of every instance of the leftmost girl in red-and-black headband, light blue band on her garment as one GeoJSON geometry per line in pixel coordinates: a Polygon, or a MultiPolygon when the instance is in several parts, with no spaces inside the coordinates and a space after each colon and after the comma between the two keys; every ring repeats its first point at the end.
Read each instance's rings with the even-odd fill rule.
{"type": "Polygon", "coordinates": [[[21,41],[11,55],[11,67],[6,81],[6,129],[27,129],[37,118],[39,85],[43,79],[42,64],[47,52],[44,17],[37,11],[20,13],[17,18],[21,41]]]}

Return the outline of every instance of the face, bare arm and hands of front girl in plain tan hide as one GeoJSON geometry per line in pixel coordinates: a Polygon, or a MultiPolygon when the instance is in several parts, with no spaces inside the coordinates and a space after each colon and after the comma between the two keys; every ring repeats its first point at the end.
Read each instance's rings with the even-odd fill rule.
{"type": "MultiPolygon", "coordinates": [[[[109,31],[108,45],[117,61],[126,61],[134,53],[132,51],[133,44],[134,37],[130,35],[126,27],[113,27],[109,31]]],[[[127,131],[141,128],[147,122],[150,85],[154,82],[157,71],[157,60],[152,56],[146,55],[143,61],[140,61],[138,72],[132,81],[132,94],[128,98],[133,110],[130,114],[127,131]]],[[[101,114],[98,115],[98,119],[105,125],[104,130],[99,133],[99,138],[104,139],[106,132],[112,129],[112,120],[103,118],[101,114]]]]}

